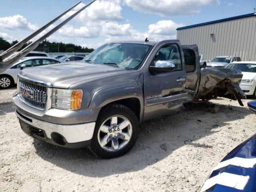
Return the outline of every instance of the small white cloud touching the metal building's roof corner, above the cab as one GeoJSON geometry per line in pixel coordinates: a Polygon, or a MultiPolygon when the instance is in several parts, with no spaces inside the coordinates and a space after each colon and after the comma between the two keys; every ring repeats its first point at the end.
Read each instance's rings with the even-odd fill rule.
{"type": "Polygon", "coordinates": [[[176,35],[176,28],[184,26],[183,24],[177,24],[172,20],[161,20],[155,24],[151,24],[148,26],[149,34],[157,34],[157,35],[176,35]]]}

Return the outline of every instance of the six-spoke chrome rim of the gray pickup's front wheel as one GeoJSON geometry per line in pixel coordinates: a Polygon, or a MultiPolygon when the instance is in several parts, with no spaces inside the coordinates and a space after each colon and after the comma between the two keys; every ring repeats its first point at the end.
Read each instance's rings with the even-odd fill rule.
{"type": "Polygon", "coordinates": [[[124,148],[132,137],[132,123],[122,115],[111,116],[105,120],[98,131],[98,143],[108,152],[124,148]]]}

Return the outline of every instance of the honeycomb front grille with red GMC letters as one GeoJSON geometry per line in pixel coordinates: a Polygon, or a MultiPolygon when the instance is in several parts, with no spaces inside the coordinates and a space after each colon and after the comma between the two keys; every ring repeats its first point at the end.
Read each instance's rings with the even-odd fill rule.
{"type": "Polygon", "coordinates": [[[36,107],[46,107],[47,89],[45,86],[19,78],[17,88],[22,100],[36,107]]]}

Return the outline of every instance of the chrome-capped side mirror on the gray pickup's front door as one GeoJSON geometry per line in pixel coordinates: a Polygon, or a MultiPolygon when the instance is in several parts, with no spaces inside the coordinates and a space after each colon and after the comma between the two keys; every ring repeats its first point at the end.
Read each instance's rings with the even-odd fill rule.
{"type": "Polygon", "coordinates": [[[150,66],[149,70],[152,74],[171,72],[175,69],[175,65],[171,61],[157,61],[155,66],[150,66]]]}

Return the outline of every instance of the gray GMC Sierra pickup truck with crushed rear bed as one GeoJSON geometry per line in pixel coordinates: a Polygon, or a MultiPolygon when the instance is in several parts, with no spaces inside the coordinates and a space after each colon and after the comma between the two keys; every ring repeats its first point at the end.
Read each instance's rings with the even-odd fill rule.
{"type": "Polygon", "coordinates": [[[114,158],[134,146],[140,122],[176,112],[186,102],[220,96],[242,105],[241,79],[239,70],[201,70],[196,45],[113,42],[82,62],[24,68],[13,102],[29,136],[114,158]]]}

